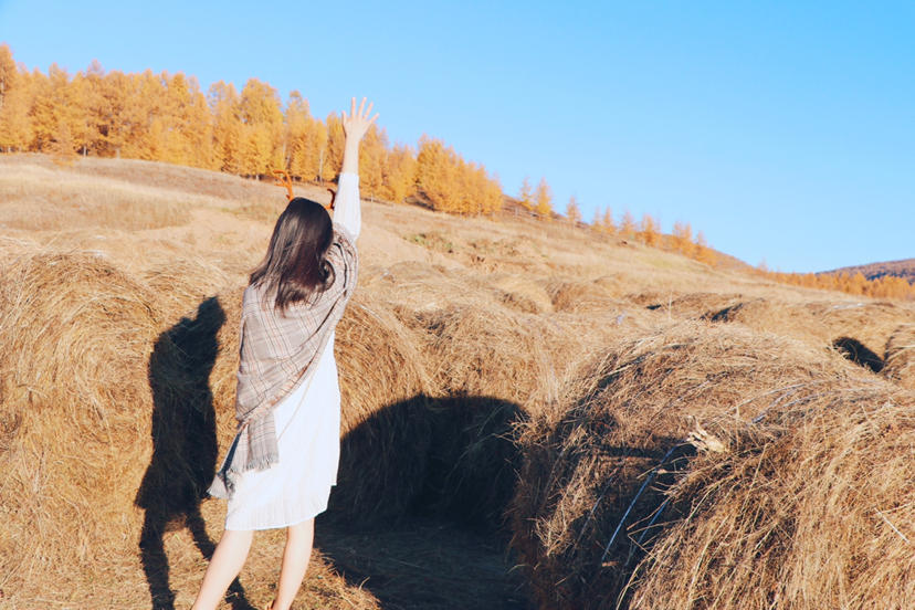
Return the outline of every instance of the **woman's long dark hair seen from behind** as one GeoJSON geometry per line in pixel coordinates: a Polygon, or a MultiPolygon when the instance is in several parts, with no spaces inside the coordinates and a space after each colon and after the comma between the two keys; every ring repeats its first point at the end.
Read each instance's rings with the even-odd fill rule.
{"type": "Polygon", "coordinates": [[[334,224],[324,206],[296,197],[276,219],[264,260],[251,273],[251,285],[275,294],[275,307],[285,312],[309,303],[334,282],[327,250],[334,224]]]}

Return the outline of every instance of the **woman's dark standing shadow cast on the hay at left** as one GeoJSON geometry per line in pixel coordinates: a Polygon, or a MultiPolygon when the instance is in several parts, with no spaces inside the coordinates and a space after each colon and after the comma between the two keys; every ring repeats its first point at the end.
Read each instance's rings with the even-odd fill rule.
{"type": "MultiPolygon", "coordinates": [[[[193,318],[183,317],[159,335],[149,357],[152,390],[152,460],[137,491],[145,511],[139,549],[152,610],[173,610],[164,535],[187,527],[200,553],[212,557],[200,502],[215,472],[215,412],[210,372],[225,313],[215,297],[203,301],[193,318]]],[[[235,610],[250,610],[235,579],[227,593],[235,610]]]]}

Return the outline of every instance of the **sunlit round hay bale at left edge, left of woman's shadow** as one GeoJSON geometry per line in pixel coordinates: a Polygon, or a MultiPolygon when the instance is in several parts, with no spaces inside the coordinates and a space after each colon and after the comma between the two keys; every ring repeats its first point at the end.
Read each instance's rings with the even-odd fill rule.
{"type": "Polygon", "coordinates": [[[98,257],[25,251],[3,265],[6,591],[113,578],[108,557],[135,545],[160,319],[154,295],[98,257]]]}

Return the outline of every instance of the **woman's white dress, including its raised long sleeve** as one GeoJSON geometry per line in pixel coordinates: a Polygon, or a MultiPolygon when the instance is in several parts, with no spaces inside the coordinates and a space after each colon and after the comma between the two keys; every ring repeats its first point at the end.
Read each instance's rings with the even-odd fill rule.
{"type": "MultiPolygon", "coordinates": [[[[354,239],[359,235],[357,173],[340,175],[334,223],[354,239]]],[[[311,379],[277,403],[273,416],[280,460],[267,470],[239,474],[225,529],[286,527],[327,509],[340,456],[340,387],[333,332],[311,379]]]]}

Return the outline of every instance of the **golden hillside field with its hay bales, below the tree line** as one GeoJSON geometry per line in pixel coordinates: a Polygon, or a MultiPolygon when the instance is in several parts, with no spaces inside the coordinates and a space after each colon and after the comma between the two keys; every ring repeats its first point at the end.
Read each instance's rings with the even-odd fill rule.
{"type": "MultiPolygon", "coordinates": [[[[0,156],[0,608],[190,606],[284,204],[0,156]]],[[[358,246],[296,608],[915,608],[915,304],[511,215],[364,202],[358,246]]],[[[271,599],[282,541],[232,608],[271,599]]]]}

